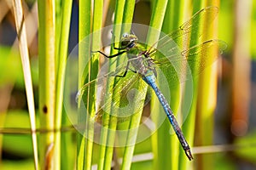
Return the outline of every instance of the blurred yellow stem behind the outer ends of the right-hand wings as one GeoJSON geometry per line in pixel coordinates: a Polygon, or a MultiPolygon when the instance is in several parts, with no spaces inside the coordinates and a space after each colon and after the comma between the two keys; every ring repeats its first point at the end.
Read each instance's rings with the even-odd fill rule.
{"type": "MultiPolygon", "coordinates": [[[[219,1],[204,1],[203,6],[217,6],[219,1]]],[[[209,16],[211,17],[211,16],[209,16]]],[[[218,34],[218,20],[217,18],[212,24],[209,24],[207,20],[203,20],[206,30],[202,37],[203,41],[207,41],[209,38],[217,37],[218,34]]],[[[218,53],[218,49],[215,48],[210,52],[208,58],[215,57],[218,53]]],[[[217,101],[217,67],[218,62],[207,67],[205,71],[200,74],[198,88],[198,98],[196,106],[196,145],[211,145],[213,142],[213,123],[214,123],[214,110],[216,108],[217,101]],[[202,128],[204,127],[204,128],[202,128]]],[[[200,155],[197,156],[197,167],[199,169],[214,169],[212,155],[200,155]]]]}

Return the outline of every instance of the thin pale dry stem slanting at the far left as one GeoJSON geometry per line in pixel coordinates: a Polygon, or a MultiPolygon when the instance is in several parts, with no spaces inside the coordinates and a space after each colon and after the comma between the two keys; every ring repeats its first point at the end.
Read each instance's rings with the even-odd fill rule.
{"type": "MultiPolygon", "coordinates": [[[[29,54],[26,41],[26,26],[23,15],[23,9],[20,0],[14,0],[15,11],[15,26],[17,30],[17,36],[19,39],[20,57],[22,61],[23,74],[26,86],[26,98],[28,111],[30,116],[31,128],[32,128],[32,147],[34,154],[35,169],[38,169],[38,140],[36,134],[36,115],[34,105],[34,95],[32,90],[32,76],[30,71],[29,54]]],[[[0,156],[1,157],[1,156],[0,156]]]]}

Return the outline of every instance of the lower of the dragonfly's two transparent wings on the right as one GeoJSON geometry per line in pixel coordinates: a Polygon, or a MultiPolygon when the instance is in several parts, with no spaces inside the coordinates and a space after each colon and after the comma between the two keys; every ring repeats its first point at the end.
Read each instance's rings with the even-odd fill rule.
{"type": "Polygon", "coordinates": [[[154,66],[160,67],[161,70],[166,70],[172,82],[176,82],[177,79],[178,82],[185,82],[200,74],[207,66],[212,65],[226,47],[225,42],[209,40],[183,50],[178,54],[171,54],[170,51],[167,51],[169,55],[154,59],[154,66]],[[216,52],[215,54],[214,51],[216,52]]]}

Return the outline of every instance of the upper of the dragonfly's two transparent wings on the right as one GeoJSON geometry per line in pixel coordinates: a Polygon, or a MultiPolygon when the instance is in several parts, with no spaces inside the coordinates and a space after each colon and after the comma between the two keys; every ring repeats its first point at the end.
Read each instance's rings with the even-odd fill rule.
{"type": "Polygon", "coordinates": [[[166,49],[169,49],[170,53],[177,54],[180,50],[195,45],[197,41],[200,40],[201,35],[208,29],[203,21],[207,22],[207,25],[210,26],[217,15],[218,7],[201,9],[195,13],[190,20],[183,23],[182,26],[179,26],[176,31],[172,31],[166,35],[160,35],[160,39],[148,49],[148,53],[154,54],[157,48],[158,51],[166,51],[166,49]],[[190,39],[190,35],[196,35],[198,38],[190,39]]]}

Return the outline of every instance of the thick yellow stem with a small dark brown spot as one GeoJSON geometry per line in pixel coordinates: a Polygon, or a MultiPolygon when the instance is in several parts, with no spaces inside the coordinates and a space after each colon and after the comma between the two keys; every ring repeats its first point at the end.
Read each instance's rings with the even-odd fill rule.
{"type": "MultiPolygon", "coordinates": [[[[38,1],[39,114],[42,128],[55,128],[55,1],[38,1]]],[[[40,135],[42,169],[57,169],[54,133],[40,135]]]]}

